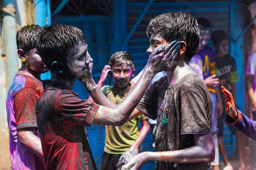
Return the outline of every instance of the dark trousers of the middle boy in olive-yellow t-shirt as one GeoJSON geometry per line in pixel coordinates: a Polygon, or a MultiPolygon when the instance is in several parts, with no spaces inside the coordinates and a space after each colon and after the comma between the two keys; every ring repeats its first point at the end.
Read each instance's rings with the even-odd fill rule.
{"type": "Polygon", "coordinates": [[[101,170],[116,170],[121,155],[122,154],[108,154],[104,152],[101,158],[101,170]]]}

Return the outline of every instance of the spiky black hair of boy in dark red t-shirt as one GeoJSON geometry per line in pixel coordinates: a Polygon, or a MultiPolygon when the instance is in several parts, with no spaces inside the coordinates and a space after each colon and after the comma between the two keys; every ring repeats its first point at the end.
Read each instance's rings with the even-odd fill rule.
{"type": "Polygon", "coordinates": [[[52,71],[52,62],[66,63],[67,58],[78,47],[79,42],[85,43],[85,36],[79,28],[52,24],[42,27],[38,33],[36,50],[46,67],[52,71]]]}

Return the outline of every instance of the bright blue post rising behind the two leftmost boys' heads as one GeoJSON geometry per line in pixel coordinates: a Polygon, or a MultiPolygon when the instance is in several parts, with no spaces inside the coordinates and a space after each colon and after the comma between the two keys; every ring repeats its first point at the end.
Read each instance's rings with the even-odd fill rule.
{"type": "MultiPolygon", "coordinates": [[[[35,24],[39,26],[46,25],[46,12],[47,12],[46,0],[35,0],[34,2],[34,18],[35,24]]],[[[50,72],[41,74],[41,79],[50,79],[50,72]]]]}

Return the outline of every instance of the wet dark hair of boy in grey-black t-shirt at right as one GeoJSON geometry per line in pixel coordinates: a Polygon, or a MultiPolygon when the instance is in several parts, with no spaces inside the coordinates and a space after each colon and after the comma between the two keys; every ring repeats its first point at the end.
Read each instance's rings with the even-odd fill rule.
{"type": "Polygon", "coordinates": [[[147,27],[147,36],[152,33],[159,34],[167,42],[186,42],[184,59],[187,62],[195,55],[200,41],[198,22],[187,12],[168,12],[155,17],[147,27]]]}

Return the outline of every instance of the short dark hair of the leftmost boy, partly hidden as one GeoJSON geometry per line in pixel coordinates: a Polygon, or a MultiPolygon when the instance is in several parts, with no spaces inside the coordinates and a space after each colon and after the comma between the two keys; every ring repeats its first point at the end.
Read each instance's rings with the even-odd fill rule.
{"type": "Polygon", "coordinates": [[[40,29],[40,26],[34,24],[20,28],[16,34],[18,49],[22,49],[28,55],[29,50],[36,47],[36,36],[40,29]]]}

